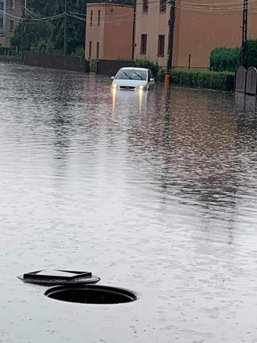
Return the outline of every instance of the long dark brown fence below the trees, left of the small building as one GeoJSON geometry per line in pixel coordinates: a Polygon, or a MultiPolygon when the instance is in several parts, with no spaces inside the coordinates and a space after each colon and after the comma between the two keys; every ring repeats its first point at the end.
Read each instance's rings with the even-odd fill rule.
{"type": "Polygon", "coordinates": [[[65,69],[89,72],[89,62],[82,57],[41,54],[34,51],[24,51],[24,64],[27,66],[65,69]]]}

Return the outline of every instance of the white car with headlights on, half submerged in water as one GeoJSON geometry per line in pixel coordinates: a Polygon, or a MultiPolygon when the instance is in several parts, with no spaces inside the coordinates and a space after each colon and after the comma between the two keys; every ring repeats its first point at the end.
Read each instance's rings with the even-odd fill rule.
{"type": "Polygon", "coordinates": [[[150,69],[146,68],[121,68],[115,76],[112,76],[111,87],[120,90],[144,90],[155,89],[155,79],[150,69]]]}

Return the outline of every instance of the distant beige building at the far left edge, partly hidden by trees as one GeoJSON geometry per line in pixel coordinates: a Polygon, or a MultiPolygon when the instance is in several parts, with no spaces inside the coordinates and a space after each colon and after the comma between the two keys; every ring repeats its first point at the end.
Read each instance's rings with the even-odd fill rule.
{"type": "Polygon", "coordinates": [[[24,0],[0,0],[0,44],[4,47],[10,45],[23,5],[24,0]]]}

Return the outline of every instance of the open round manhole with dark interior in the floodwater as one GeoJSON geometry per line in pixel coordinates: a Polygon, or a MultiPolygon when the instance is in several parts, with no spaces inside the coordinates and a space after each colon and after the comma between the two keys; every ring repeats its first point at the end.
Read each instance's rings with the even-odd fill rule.
{"type": "Polygon", "coordinates": [[[49,298],[82,304],[120,304],[137,299],[132,292],[109,286],[53,287],[45,292],[49,298]]]}

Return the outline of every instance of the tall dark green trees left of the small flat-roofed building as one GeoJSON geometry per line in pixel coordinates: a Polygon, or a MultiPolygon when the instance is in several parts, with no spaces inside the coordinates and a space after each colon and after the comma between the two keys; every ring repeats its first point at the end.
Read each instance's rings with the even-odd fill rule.
{"type": "MultiPolygon", "coordinates": [[[[87,2],[102,2],[101,0],[67,0],[66,12],[86,14],[87,2]]],[[[132,4],[133,0],[115,0],[113,3],[132,4]]],[[[64,0],[27,0],[26,7],[34,18],[50,17],[64,12],[64,0]]],[[[75,15],[77,16],[77,15],[75,15]]],[[[25,14],[26,19],[32,19],[25,14]]],[[[81,19],[84,16],[79,16],[81,19]]],[[[28,21],[27,21],[28,22],[28,21]]],[[[14,37],[11,38],[11,48],[34,50],[40,52],[63,53],[64,17],[50,21],[23,24],[23,44],[21,43],[22,25],[16,26],[14,37]]],[[[66,16],[66,54],[82,56],[85,46],[85,21],[66,16]],[[83,48],[84,49],[84,48],[83,48]]],[[[83,53],[84,55],[84,53],[83,53]]]]}

